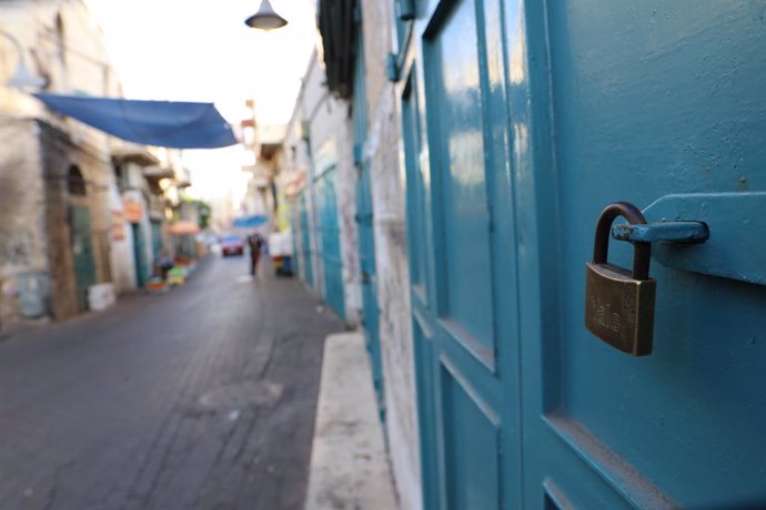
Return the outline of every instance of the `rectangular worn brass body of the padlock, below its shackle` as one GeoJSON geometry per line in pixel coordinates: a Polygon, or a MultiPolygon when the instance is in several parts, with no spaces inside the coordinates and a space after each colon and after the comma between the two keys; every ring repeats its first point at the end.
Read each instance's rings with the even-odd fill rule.
{"type": "Polygon", "coordinates": [[[634,279],[622,267],[588,262],[585,327],[624,353],[652,354],[656,289],[654,278],[634,279]]]}

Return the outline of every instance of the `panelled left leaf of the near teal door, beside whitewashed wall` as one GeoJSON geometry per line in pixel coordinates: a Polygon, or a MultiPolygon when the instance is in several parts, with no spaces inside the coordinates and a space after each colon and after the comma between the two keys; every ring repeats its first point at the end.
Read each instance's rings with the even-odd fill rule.
{"type": "Polygon", "coordinates": [[[402,96],[425,507],[518,508],[518,336],[496,2],[432,2],[402,96]]]}

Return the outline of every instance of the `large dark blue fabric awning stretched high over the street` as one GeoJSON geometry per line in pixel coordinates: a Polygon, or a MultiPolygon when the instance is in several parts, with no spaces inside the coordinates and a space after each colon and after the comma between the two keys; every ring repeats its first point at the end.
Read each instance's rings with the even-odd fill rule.
{"type": "Polygon", "coordinates": [[[33,94],[51,110],[141,145],[216,149],[238,143],[212,103],[33,94]]]}

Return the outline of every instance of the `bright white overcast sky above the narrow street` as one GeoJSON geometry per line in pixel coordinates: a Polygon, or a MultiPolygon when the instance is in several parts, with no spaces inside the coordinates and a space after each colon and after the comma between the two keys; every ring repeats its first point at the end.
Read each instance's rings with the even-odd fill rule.
{"type": "MultiPolygon", "coordinates": [[[[129,99],[214,102],[230,122],[254,99],[261,124],[290,119],[316,41],[314,0],[271,0],[286,27],[244,24],[260,0],[85,0],[129,99]]],[[[220,196],[242,185],[241,149],[185,151],[193,190],[220,196]]]]}

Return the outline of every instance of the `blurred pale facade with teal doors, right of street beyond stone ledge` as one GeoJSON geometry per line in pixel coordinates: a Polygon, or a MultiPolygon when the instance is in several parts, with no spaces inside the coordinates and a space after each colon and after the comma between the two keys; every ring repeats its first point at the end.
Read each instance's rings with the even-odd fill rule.
{"type": "Polygon", "coordinates": [[[281,151],[288,154],[286,167],[306,172],[292,191],[300,272],[335,314],[353,326],[361,308],[361,274],[352,122],[347,103],[330,94],[324,76],[324,64],[314,53],[281,151]]]}

